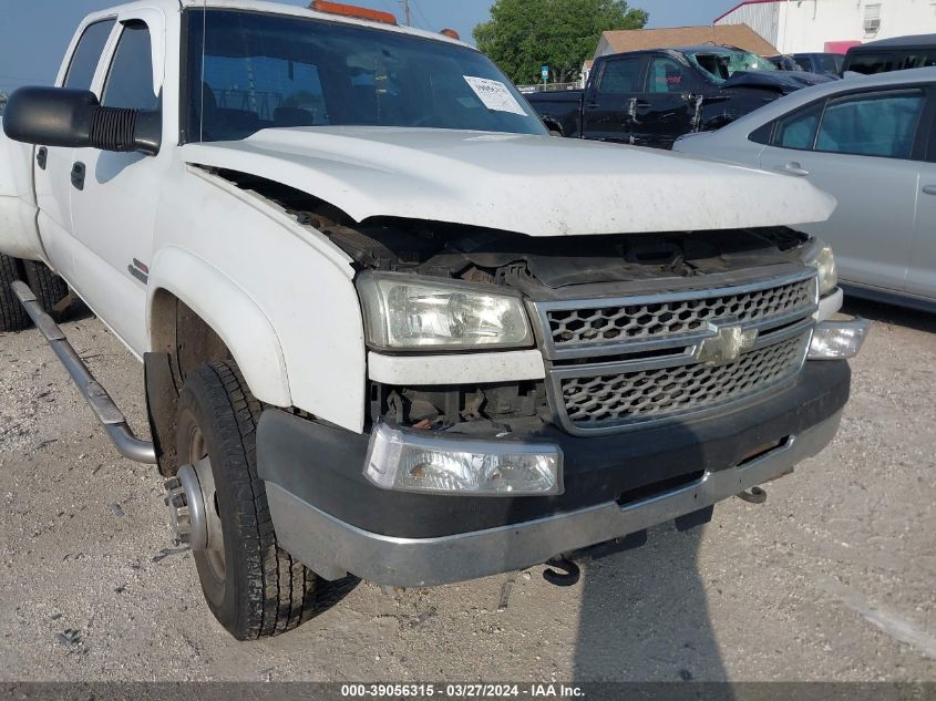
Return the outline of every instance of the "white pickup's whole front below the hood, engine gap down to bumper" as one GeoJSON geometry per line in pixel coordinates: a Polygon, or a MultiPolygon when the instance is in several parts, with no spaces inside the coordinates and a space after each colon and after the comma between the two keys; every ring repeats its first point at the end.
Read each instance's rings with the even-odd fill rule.
{"type": "Polygon", "coordinates": [[[835,434],[847,365],[806,362],[833,267],[803,234],[356,223],[218,175],[356,269],[364,431],[279,410],[258,427],[277,538],[326,578],[441,585],[692,527],[835,434]]]}

